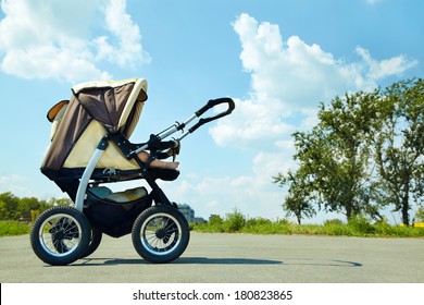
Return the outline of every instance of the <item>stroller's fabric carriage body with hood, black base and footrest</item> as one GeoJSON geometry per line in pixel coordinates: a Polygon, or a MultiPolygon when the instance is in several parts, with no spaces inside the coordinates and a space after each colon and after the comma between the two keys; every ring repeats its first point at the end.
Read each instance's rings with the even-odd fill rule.
{"type": "MultiPolygon", "coordinates": [[[[48,112],[52,122],[51,144],[41,172],[75,198],[78,180],[107,135],[129,138],[147,100],[147,81],[88,82],[72,88],[71,100],[62,100],[48,112]]],[[[125,181],[142,178],[140,164],[124,154],[120,143],[110,141],[96,163],[93,179],[125,181]]],[[[152,170],[154,179],[175,180],[176,170],[152,170]]]]}

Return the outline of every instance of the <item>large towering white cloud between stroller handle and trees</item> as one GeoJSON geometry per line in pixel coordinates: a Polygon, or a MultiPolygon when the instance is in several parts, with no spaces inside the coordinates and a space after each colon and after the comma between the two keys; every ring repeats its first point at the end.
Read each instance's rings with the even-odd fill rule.
{"type": "Polygon", "coordinates": [[[317,123],[319,102],[373,89],[378,81],[401,75],[417,62],[403,56],[376,60],[361,47],[354,50],[358,61],[347,62],[298,36],[285,40],[277,25],[258,23],[248,14],[233,26],[241,42],[242,66],[251,76],[249,98],[235,98],[235,111],[210,133],[217,145],[242,147],[254,157],[251,175],[208,181],[208,195],[227,190],[219,202],[229,204],[228,211],[236,206],[252,217],[282,217],[284,194],[271,178],[296,168],[291,134],[317,123]]]}

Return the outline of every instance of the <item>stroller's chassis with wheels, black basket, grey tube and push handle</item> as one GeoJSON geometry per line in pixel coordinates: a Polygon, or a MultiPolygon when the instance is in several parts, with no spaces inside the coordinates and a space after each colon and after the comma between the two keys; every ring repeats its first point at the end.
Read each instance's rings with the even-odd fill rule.
{"type": "MultiPolygon", "coordinates": [[[[74,90],[73,94],[77,99],[74,90]]],[[[102,233],[113,237],[132,233],[135,249],[146,260],[161,264],[178,258],[188,245],[189,225],[177,209],[177,205],[167,198],[155,180],[172,181],[179,172],[152,169],[150,162],[170,157],[167,152],[170,149],[175,157],[175,154],[179,152],[179,143],[183,138],[201,125],[230,114],[234,109],[235,103],[230,98],[211,99],[183,123],[176,122],[158,134],[151,134],[149,141],[141,144],[130,143],[122,130],[108,132],[97,144],[77,184],[75,180],[70,180],[72,181],[70,185],[67,180],[58,182],[55,175],[49,169],[45,169],[43,173],[70,195],[74,206],[52,207],[39,216],[30,232],[34,253],[49,265],[63,266],[92,254],[101,242],[102,233]],[[208,110],[222,103],[227,105],[225,111],[209,118],[200,118],[208,110]],[[184,129],[196,119],[199,119],[198,122],[184,132],[184,129]],[[178,138],[164,141],[176,132],[183,134],[178,138]],[[126,159],[135,160],[139,169],[130,171],[129,175],[107,169],[101,174],[96,172],[99,160],[111,143],[126,159]],[[147,162],[142,162],[138,157],[144,150],[150,151],[147,162]],[[151,192],[147,194],[147,191],[140,187],[146,191],[146,195],[125,203],[102,199],[92,192],[100,184],[136,179],[146,180],[151,192]]]]}

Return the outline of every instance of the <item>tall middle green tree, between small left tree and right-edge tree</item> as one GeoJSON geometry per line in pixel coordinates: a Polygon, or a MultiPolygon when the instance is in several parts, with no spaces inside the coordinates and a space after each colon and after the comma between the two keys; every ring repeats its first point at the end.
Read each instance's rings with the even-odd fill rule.
{"type": "Polygon", "coordinates": [[[321,144],[325,154],[313,160],[317,187],[325,209],[342,211],[348,220],[353,215],[372,210],[371,145],[373,131],[379,124],[378,90],[356,93],[345,98],[336,97],[331,106],[322,105],[319,129],[324,134],[321,144]]]}

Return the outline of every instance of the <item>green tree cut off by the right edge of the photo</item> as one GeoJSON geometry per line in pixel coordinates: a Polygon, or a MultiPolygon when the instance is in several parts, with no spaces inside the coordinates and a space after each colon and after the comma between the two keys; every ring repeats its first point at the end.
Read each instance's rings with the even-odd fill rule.
{"type": "Polygon", "coordinates": [[[385,120],[375,136],[378,202],[394,205],[409,225],[409,211],[413,203],[423,205],[424,195],[424,81],[395,83],[379,102],[385,120]]]}

